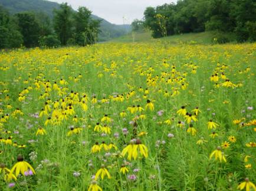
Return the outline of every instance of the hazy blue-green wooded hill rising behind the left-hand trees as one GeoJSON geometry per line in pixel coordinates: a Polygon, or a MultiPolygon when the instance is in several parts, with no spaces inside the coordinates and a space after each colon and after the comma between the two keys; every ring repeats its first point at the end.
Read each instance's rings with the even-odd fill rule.
{"type": "MultiPolygon", "coordinates": [[[[53,9],[60,8],[60,4],[45,0],[0,0],[0,5],[8,9],[11,14],[17,14],[22,11],[41,11],[51,18],[53,9]]],[[[99,41],[109,41],[112,38],[125,35],[131,30],[130,25],[114,25],[96,15],[92,15],[92,18],[101,20],[99,41]]]]}

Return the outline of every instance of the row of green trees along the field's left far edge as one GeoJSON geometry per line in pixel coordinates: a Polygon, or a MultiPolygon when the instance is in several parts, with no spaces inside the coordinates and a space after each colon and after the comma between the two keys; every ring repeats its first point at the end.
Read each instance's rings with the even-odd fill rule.
{"type": "Polygon", "coordinates": [[[53,18],[44,12],[19,12],[11,15],[0,6],[0,48],[27,48],[66,45],[86,46],[97,41],[100,20],[80,6],[75,12],[67,3],[54,9],[53,18]]]}

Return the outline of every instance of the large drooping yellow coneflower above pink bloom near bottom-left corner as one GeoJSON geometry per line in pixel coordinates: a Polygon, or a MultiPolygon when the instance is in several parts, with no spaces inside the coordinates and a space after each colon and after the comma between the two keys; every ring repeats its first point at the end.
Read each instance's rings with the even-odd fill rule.
{"type": "Polygon", "coordinates": [[[29,165],[28,162],[24,161],[23,156],[18,155],[17,160],[18,160],[18,162],[12,167],[10,173],[14,173],[14,170],[15,170],[15,176],[17,177],[19,175],[19,173],[24,175],[24,172],[27,171],[28,169],[30,169],[35,174],[35,170],[33,169],[33,167],[31,165],[29,165]]]}

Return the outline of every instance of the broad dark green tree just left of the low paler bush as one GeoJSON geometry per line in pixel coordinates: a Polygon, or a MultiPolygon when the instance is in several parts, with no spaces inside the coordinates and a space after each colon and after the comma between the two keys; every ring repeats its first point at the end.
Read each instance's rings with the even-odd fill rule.
{"type": "Polygon", "coordinates": [[[15,15],[18,19],[19,32],[23,36],[26,47],[35,47],[39,45],[40,26],[32,12],[21,12],[15,15]]]}

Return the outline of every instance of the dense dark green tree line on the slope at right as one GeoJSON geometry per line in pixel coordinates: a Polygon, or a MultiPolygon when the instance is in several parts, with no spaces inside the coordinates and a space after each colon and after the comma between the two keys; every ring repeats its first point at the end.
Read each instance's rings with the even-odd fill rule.
{"type": "Polygon", "coordinates": [[[141,22],[154,38],[217,31],[234,36],[238,42],[256,41],[256,1],[179,0],[176,4],[146,8],[143,21],[133,22],[133,29],[139,29],[141,22]]]}

